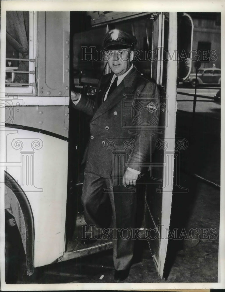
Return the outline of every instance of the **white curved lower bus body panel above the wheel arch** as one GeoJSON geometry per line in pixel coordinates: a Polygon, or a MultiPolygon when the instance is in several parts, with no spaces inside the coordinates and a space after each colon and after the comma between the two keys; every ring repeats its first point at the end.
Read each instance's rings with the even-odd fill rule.
{"type": "Polygon", "coordinates": [[[68,142],[18,128],[6,129],[6,171],[22,187],[34,218],[34,267],[63,256],[68,142]]]}

